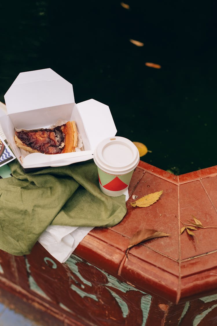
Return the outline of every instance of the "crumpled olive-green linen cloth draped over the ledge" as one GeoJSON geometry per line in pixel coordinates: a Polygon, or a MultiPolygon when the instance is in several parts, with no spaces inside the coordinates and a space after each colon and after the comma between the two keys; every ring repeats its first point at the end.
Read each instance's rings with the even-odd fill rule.
{"type": "Polygon", "coordinates": [[[12,177],[0,179],[0,249],[31,252],[48,225],[111,227],[126,214],[125,196],[109,197],[99,187],[93,160],[24,173],[8,164],[12,177]]]}

